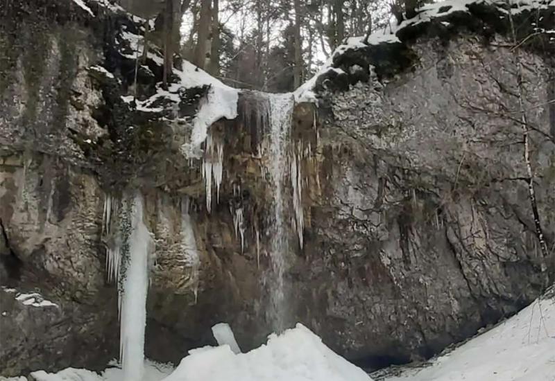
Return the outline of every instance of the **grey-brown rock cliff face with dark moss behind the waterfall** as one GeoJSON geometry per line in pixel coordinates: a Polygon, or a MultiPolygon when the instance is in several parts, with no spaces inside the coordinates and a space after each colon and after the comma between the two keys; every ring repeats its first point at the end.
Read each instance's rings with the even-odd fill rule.
{"type": "MultiPolygon", "coordinates": [[[[275,99],[241,92],[237,118],[212,124],[200,159],[185,157],[210,87],[144,106],[162,75],[157,52],[135,86],[128,35],[139,24],[86,4],[0,10],[0,374],[117,357],[106,263],[137,191],[155,240],[146,355],[177,362],[219,321],[242,348],[259,344],[276,321],[275,99]]],[[[345,49],[342,73],[320,76],[318,103],[298,103],[283,132],[282,323],[301,321],[369,367],[429,357],[513,314],[543,289],[544,263],[553,279],[529,202],[512,44],[492,8],[468,8],[345,49]]],[[[538,9],[555,23],[554,5],[538,9]]],[[[553,45],[538,33],[519,49],[549,247],[553,45]]]]}

